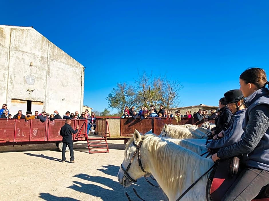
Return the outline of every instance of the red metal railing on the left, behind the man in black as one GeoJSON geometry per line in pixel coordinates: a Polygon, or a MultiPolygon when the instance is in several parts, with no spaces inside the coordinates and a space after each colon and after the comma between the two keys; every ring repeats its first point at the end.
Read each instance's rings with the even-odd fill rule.
{"type": "MultiPolygon", "coordinates": [[[[0,145],[52,143],[62,140],[61,127],[65,120],[56,119],[41,122],[39,119],[0,119],[0,145]]],[[[85,140],[87,120],[71,120],[71,127],[75,130],[79,125],[74,141],[85,140]]]]}

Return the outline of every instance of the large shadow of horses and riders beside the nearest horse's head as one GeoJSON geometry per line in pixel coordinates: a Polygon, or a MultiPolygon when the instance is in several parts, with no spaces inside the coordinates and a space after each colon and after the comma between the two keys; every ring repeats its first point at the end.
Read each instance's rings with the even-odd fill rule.
{"type": "MultiPolygon", "coordinates": [[[[112,179],[103,176],[77,174],[74,177],[94,183],[85,184],[83,182],[74,181],[74,184],[68,188],[78,192],[90,194],[95,197],[100,197],[103,201],[128,200],[124,193],[123,186],[120,185],[117,180],[119,167],[115,165],[106,165],[102,166],[102,168],[103,169],[98,170],[104,172],[105,174],[114,176],[114,178],[112,179]]],[[[152,182],[157,185],[157,182],[152,182]]],[[[159,187],[151,186],[143,178],[139,179],[136,184],[132,184],[132,186],[126,188],[126,191],[128,192],[131,200],[138,200],[131,187],[134,187],[137,190],[137,193],[145,200],[167,200],[167,197],[163,194],[159,187]],[[154,194],[151,192],[154,192],[154,194]]]]}

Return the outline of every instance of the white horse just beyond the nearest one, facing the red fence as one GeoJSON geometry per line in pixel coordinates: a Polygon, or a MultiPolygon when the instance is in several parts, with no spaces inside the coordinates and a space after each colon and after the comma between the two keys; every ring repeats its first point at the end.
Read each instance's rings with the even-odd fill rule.
{"type": "Polygon", "coordinates": [[[161,130],[160,137],[174,138],[174,139],[201,139],[202,136],[197,135],[189,131],[189,129],[184,127],[179,127],[176,125],[165,124],[161,130]]]}

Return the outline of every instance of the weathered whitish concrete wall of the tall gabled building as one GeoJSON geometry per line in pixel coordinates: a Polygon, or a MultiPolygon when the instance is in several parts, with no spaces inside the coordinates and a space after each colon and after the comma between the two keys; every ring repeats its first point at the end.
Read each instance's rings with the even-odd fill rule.
{"type": "Polygon", "coordinates": [[[1,25],[0,55],[0,104],[21,99],[41,101],[49,113],[82,111],[83,66],[35,29],[1,25]]]}

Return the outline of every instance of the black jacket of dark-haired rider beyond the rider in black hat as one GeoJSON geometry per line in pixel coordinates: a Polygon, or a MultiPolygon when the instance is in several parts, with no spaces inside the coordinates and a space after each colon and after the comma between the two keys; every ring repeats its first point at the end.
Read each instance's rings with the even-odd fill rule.
{"type": "Polygon", "coordinates": [[[215,135],[219,134],[220,131],[226,131],[228,129],[228,124],[232,118],[232,112],[228,107],[223,107],[220,109],[220,115],[216,123],[215,135]]]}

